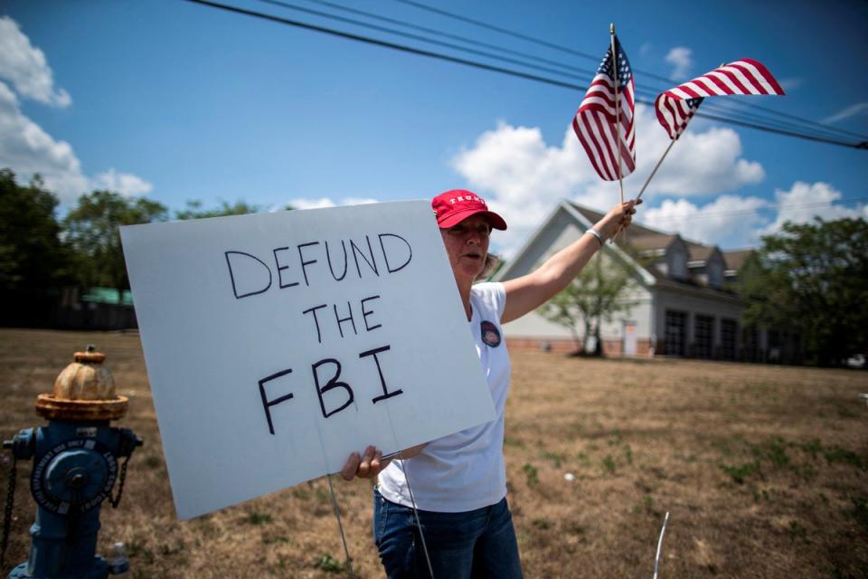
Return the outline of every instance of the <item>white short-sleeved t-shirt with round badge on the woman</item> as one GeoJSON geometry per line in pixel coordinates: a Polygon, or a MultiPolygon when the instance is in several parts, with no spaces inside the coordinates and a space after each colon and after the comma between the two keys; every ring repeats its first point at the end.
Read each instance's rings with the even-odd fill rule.
{"type": "Polygon", "coordinates": [[[422,510],[457,513],[494,505],[506,496],[504,410],[510,364],[500,327],[505,302],[502,283],[479,283],[470,289],[470,330],[497,418],[430,441],[411,459],[393,460],[379,476],[383,497],[412,505],[402,469],[410,479],[416,506],[422,510]]]}

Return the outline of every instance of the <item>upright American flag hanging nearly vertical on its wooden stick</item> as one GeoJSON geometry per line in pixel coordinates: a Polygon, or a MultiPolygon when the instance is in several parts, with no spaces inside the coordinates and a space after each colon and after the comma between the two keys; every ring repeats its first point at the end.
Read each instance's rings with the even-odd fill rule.
{"type": "Polygon", "coordinates": [[[636,135],[633,131],[633,71],[627,54],[615,37],[615,52],[618,62],[613,63],[612,49],[606,51],[597,76],[590,82],[585,98],[572,119],[582,147],[588,153],[590,164],[597,175],[605,181],[617,181],[636,168],[636,135]],[[620,130],[616,129],[615,73],[618,71],[618,114],[620,130]],[[618,147],[621,151],[621,166],[618,171],[618,147]],[[620,175],[619,175],[620,173],[620,175]]]}

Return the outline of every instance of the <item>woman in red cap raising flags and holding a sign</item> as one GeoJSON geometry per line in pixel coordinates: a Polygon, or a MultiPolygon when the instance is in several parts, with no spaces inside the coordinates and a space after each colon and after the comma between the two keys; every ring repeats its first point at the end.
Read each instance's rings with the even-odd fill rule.
{"type": "MultiPolygon", "coordinates": [[[[641,203],[641,202],[639,202],[641,203]]],[[[446,246],[480,363],[495,403],[493,422],[401,452],[384,460],[368,447],[347,459],[344,479],[378,477],[374,542],[390,579],[522,576],[512,515],[506,505],[504,409],[509,355],[501,324],[524,316],[564,289],[603,242],[627,227],[634,202],[618,204],[580,239],[542,266],[514,280],[480,283],[491,262],[488,237],[505,230],[500,215],[469,191],[447,191],[431,207],[446,246]],[[415,499],[423,533],[412,505],[415,499]],[[427,551],[427,555],[426,552],[427,551]]]]}

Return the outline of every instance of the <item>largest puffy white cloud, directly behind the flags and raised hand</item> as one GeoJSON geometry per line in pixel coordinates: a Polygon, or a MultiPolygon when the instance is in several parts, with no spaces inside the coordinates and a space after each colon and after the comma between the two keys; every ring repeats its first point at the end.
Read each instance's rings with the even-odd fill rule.
{"type": "MultiPolygon", "coordinates": [[[[670,142],[651,109],[639,105],[636,123],[639,156],[636,172],[624,181],[627,198],[637,195],[670,142]]],[[[735,131],[700,132],[701,127],[697,123],[675,143],[646,190],[646,201],[663,195],[717,195],[764,178],[759,163],[741,158],[741,139],[735,131]]],[[[558,147],[547,145],[539,128],[500,122],[476,138],[472,147],[461,150],[452,166],[509,223],[509,229],[494,238],[495,250],[506,257],[561,199],[600,211],[618,199],[618,184],[599,180],[571,127],[558,147]]]]}

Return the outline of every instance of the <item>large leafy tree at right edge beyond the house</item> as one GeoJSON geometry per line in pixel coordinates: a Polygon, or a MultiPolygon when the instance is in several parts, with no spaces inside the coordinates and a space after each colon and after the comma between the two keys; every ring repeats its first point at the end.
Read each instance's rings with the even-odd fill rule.
{"type": "Polygon", "coordinates": [[[785,223],[762,241],[742,322],[798,334],[817,365],[868,353],[868,222],[785,223]]]}

